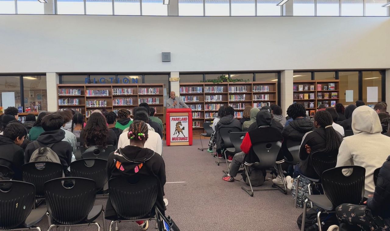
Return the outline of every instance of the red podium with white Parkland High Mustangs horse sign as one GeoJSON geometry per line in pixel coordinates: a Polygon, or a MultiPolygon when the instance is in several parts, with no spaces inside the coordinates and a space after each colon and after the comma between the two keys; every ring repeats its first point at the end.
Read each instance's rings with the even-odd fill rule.
{"type": "Polygon", "coordinates": [[[167,109],[165,116],[167,146],[192,145],[192,110],[189,108],[167,109]]]}

